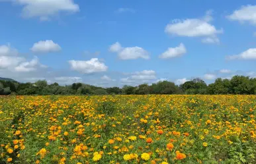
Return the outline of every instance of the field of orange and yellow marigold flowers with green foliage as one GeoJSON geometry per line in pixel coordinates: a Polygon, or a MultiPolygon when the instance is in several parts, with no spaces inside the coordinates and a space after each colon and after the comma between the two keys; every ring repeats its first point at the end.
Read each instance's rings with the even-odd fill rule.
{"type": "Polygon", "coordinates": [[[256,163],[256,96],[3,96],[0,163],[256,163]]]}

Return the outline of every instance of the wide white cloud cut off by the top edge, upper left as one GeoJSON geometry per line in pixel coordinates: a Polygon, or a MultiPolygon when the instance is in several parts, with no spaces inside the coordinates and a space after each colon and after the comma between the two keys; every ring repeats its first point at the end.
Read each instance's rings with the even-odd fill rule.
{"type": "Polygon", "coordinates": [[[59,13],[75,13],[79,11],[79,5],[73,0],[13,0],[22,5],[22,16],[26,18],[39,17],[40,20],[50,20],[59,13]]]}

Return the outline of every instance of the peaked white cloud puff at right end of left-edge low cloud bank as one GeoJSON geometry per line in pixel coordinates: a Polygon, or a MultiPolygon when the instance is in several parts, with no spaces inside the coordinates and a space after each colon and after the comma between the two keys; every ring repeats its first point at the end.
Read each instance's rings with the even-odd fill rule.
{"type": "Polygon", "coordinates": [[[17,72],[32,72],[37,70],[38,68],[47,68],[46,65],[42,65],[39,62],[37,57],[34,57],[31,61],[25,61],[20,63],[17,67],[15,67],[15,71],[17,72]]]}

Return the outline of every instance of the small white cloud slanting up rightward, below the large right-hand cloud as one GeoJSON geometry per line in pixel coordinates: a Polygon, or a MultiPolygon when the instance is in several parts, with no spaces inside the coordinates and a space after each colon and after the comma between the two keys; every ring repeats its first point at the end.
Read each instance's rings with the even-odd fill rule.
{"type": "Polygon", "coordinates": [[[169,47],[167,51],[159,55],[161,59],[180,57],[183,54],[187,53],[187,49],[183,43],[181,43],[178,47],[169,47]]]}

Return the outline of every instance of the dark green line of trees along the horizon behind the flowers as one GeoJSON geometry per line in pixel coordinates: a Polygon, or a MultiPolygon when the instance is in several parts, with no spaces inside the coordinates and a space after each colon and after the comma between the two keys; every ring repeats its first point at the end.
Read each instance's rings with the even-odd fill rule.
{"type": "Polygon", "coordinates": [[[217,78],[207,85],[204,80],[194,78],[181,85],[174,82],[160,81],[157,83],[125,85],[122,88],[102,88],[89,84],[73,83],[60,86],[58,83],[47,84],[46,80],[34,83],[0,80],[0,95],[146,95],[146,94],[256,94],[256,78],[249,76],[233,76],[231,79],[217,78]]]}

